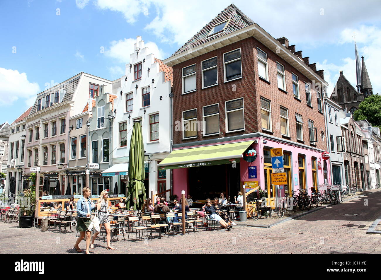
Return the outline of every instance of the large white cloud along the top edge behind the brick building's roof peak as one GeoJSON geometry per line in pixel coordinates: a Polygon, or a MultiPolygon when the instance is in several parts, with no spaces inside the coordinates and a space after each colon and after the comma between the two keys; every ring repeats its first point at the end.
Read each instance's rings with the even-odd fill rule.
{"type": "MultiPolygon", "coordinates": [[[[89,0],[77,0],[83,8],[89,0]]],[[[93,0],[99,9],[120,12],[130,24],[139,16],[154,16],[146,29],[163,42],[182,45],[205,24],[213,19],[230,0],[194,0],[192,3],[178,0],[93,0]]],[[[321,0],[303,1],[295,5],[293,0],[247,1],[236,0],[237,7],[274,37],[286,36],[290,43],[308,42],[311,46],[327,42],[336,43],[339,33],[346,27],[354,28],[360,22],[379,20],[381,1],[368,0],[366,5],[358,1],[321,0]],[[276,8],[275,8],[276,7],[276,8]],[[366,14],[361,17],[359,14],[366,14]],[[269,15],[271,20],[269,20],[269,15]]],[[[139,21],[139,24],[142,22],[139,21]]]]}

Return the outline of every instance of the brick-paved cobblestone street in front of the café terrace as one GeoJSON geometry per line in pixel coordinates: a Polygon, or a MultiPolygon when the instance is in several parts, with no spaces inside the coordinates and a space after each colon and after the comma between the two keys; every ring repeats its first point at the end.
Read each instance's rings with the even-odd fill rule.
{"type": "MultiPolygon", "coordinates": [[[[148,242],[113,242],[106,250],[96,242],[92,253],[381,253],[381,235],[366,234],[381,214],[381,192],[329,206],[301,218],[267,228],[235,226],[186,236],[154,238],[148,242]],[[346,215],[351,214],[351,215],[346,215]],[[353,214],[358,214],[354,216],[353,214]]],[[[276,214],[275,214],[276,215],[276,214]]],[[[19,229],[0,222],[1,253],[75,253],[75,232],[59,234],[40,229],[19,229]]],[[[119,240],[123,240],[120,235],[119,240]]],[[[85,248],[85,242],[80,243],[85,248]]],[[[84,251],[83,251],[84,252],[84,251]]]]}

